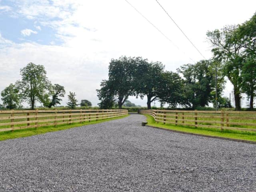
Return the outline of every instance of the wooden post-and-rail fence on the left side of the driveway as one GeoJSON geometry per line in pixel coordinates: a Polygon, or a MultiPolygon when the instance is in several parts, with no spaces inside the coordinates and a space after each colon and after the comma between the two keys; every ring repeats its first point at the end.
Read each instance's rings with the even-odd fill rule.
{"type": "Polygon", "coordinates": [[[90,122],[128,114],[128,110],[0,110],[0,132],[90,122]]]}

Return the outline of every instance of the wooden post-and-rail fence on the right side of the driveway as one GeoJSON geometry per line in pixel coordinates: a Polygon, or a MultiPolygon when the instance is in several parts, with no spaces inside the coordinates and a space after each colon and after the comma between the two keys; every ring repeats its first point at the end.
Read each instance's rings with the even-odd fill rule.
{"type": "Polygon", "coordinates": [[[140,110],[164,124],[256,132],[256,112],[199,110],[140,110]]]}

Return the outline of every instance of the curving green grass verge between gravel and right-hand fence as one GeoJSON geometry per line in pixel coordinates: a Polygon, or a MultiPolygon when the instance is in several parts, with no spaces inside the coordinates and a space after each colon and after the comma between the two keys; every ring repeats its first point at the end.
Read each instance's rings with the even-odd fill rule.
{"type": "Polygon", "coordinates": [[[175,126],[172,124],[163,124],[155,122],[154,118],[150,115],[145,115],[147,117],[148,125],[155,126],[159,128],[167,128],[170,130],[183,131],[188,133],[196,133],[209,136],[218,136],[224,138],[233,138],[240,140],[250,140],[256,141],[256,132],[248,131],[237,131],[237,130],[225,130],[223,132],[216,128],[195,128],[192,126],[175,126]]]}

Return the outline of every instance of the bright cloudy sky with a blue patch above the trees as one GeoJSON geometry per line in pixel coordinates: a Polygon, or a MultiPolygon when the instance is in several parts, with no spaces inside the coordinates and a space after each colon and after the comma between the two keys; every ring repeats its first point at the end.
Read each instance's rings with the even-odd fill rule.
{"type": "MultiPolygon", "coordinates": [[[[156,0],[128,2],[170,41],[126,0],[0,0],[0,91],[19,80],[20,69],[33,62],[44,65],[52,84],[96,106],[96,89],[108,79],[112,58],[142,56],[173,72],[203,59],[156,0]]],[[[207,59],[212,57],[208,30],[240,24],[256,12],[253,0],[158,2],[207,59]]],[[[224,96],[232,90],[227,82],[224,96]]],[[[146,106],[145,99],[129,100],[146,106]]]]}

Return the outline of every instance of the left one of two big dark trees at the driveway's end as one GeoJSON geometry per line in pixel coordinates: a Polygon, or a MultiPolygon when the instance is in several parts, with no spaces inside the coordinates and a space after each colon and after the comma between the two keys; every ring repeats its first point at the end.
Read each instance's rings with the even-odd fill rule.
{"type": "Polygon", "coordinates": [[[103,80],[102,88],[97,90],[100,106],[111,106],[112,102],[118,102],[118,108],[121,109],[129,96],[134,95],[132,63],[134,58],[122,56],[119,59],[112,59],[108,67],[108,80],[103,80]]]}

